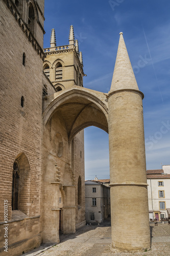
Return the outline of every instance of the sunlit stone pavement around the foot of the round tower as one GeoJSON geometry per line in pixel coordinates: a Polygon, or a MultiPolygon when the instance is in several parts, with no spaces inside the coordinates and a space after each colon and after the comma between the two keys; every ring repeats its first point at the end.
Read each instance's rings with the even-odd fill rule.
{"type": "Polygon", "coordinates": [[[61,236],[60,244],[41,252],[39,256],[170,256],[170,226],[167,222],[150,224],[152,236],[152,249],[147,252],[125,253],[117,252],[111,247],[111,227],[104,225],[89,225],[75,234],[61,236]]]}

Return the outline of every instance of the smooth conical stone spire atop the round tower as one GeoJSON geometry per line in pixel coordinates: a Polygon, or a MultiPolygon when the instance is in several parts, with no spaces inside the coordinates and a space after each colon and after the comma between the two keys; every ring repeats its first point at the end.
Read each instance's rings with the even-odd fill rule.
{"type": "Polygon", "coordinates": [[[122,32],[120,32],[120,39],[110,91],[112,92],[120,89],[139,90],[122,32]]]}

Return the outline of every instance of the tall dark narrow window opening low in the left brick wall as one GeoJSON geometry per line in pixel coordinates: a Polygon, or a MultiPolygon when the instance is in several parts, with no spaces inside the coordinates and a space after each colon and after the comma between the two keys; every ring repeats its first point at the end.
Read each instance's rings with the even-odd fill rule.
{"type": "Polygon", "coordinates": [[[12,210],[18,210],[19,205],[19,166],[17,161],[13,164],[12,180],[12,210]]]}

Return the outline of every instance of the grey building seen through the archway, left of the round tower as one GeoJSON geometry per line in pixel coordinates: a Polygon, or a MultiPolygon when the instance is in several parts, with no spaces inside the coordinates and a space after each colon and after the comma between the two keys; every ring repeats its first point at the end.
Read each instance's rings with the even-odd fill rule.
{"type": "Polygon", "coordinates": [[[103,182],[85,181],[86,223],[101,223],[110,216],[110,187],[103,182]]]}

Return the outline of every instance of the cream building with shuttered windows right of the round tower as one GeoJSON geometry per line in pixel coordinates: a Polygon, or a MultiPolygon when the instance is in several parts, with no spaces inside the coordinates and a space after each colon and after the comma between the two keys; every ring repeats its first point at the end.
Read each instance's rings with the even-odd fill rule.
{"type": "Polygon", "coordinates": [[[162,169],[147,170],[150,219],[170,216],[170,165],[162,169]]]}

